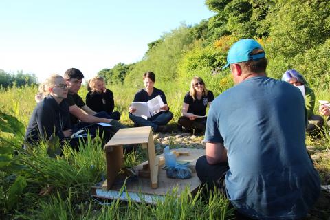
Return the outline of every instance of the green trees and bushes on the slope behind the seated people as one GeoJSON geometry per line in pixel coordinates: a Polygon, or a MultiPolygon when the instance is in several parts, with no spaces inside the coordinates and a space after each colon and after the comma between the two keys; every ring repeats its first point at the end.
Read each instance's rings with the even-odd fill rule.
{"type": "Polygon", "coordinates": [[[225,64],[228,47],[237,39],[254,38],[265,47],[269,76],[281,78],[287,69],[294,68],[311,85],[326,86],[330,67],[329,1],[208,0],[206,4],[217,12],[208,21],[181,25],[150,43],[142,61],[118,63],[99,74],[109,83],[123,82],[137,88],[142,85],[142,74],[151,70],[164,87],[176,82],[178,89],[186,89],[191,76],[197,75],[206,78],[219,94],[232,86],[226,80],[228,70],[212,76],[225,64]]]}

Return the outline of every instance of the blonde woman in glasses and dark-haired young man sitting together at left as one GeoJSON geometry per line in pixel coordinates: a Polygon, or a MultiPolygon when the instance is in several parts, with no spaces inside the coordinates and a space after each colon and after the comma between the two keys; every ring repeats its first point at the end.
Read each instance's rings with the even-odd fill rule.
{"type": "Polygon", "coordinates": [[[96,112],[89,108],[78,91],[83,83],[83,73],[79,69],[67,69],[64,77],[52,74],[39,87],[38,102],[25,133],[25,146],[34,146],[41,140],[59,138],[61,146],[65,141],[78,150],[82,135],[72,138],[72,134],[87,128],[91,136],[104,136],[107,142],[119,129],[126,128],[111,118],[105,111],[96,112]],[[110,126],[102,126],[105,123],[110,126]]]}

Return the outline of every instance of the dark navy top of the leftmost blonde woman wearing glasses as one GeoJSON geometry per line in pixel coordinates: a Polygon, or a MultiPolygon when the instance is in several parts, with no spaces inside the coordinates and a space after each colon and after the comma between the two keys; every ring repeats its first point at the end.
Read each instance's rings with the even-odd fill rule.
{"type": "Polygon", "coordinates": [[[71,129],[69,105],[65,100],[58,104],[52,96],[46,96],[32,112],[25,140],[33,143],[41,137],[48,140],[55,133],[60,140],[64,139],[63,130],[71,129]]]}

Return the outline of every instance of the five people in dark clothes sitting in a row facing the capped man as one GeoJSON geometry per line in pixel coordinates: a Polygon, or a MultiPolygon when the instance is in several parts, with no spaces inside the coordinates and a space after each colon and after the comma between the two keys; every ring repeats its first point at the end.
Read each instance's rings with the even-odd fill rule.
{"type": "MultiPolygon", "coordinates": [[[[77,148],[79,138],[71,138],[72,134],[80,129],[88,128],[92,136],[104,133],[105,141],[121,128],[126,126],[120,122],[120,112],[115,108],[113,92],[105,87],[104,78],[96,76],[89,80],[86,95],[86,104],[78,95],[83,83],[83,73],[79,69],[71,68],[65,72],[64,78],[53,74],[39,87],[36,102],[39,104],[34,109],[25,140],[34,144],[41,139],[49,140],[52,135],[64,140],[77,148]],[[65,100],[63,102],[63,100],[65,100]],[[111,126],[102,126],[96,123],[109,123],[111,126]]],[[[144,89],[140,89],[134,96],[133,102],[148,102],[160,96],[164,102],[162,111],[150,118],[135,115],[136,109],[129,107],[129,118],[135,126],[152,126],[153,131],[167,131],[166,124],[173,118],[169,111],[166,96],[160,89],[154,87],[155,74],[146,72],[143,75],[144,89]]],[[[179,124],[187,129],[199,129],[205,131],[206,107],[210,105],[214,96],[208,91],[203,80],[194,77],[191,81],[190,91],[184,97],[183,116],[179,118],[179,124]]]]}

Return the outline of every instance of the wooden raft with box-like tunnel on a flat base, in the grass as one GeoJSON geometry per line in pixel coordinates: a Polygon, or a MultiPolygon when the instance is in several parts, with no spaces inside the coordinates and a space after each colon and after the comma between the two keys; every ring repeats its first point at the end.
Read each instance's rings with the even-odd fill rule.
{"type": "Polygon", "coordinates": [[[153,131],[151,126],[137,127],[131,129],[120,129],[111,140],[105,145],[107,160],[107,180],[102,187],[93,187],[92,196],[103,199],[128,200],[155,203],[156,198],[164,198],[167,192],[177,188],[177,196],[189,186],[190,192],[195,192],[201,182],[195,173],[197,159],[204,155],[205,150],[201,149],[176,149],[172,151],[177,155],[177,162],[188,163],[192,170],[190,179],[170,179],[166,177],[163,155],[155,155],[153,142],[153,131]],[[125,190],[127,193],[120,193],[122,185],[114,184],[118,173],[124,164],[123,145],[141,144],[142,148],[148,151],[148,161],[134,167],[138,173],[136,181],[127,181],[125,190]]]}

